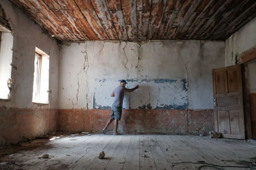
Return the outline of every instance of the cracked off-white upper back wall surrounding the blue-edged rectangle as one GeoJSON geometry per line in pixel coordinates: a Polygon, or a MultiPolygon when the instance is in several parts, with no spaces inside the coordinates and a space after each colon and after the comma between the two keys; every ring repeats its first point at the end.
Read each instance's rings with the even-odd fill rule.
{"type": "MultiPolygon", "coordinates": [[[[87,41],[63,45],[60,56],[60,109],[93,109],[93,95],[99,88],[96,79],[185,78],[188,108],[205,110],[213,108],[211,71],[225,66],[225,43],[87,41]]],[[[118,82],[113,86],[118,86],[118,82]]],[[[107,96],[113,100],[109,99],[110,94],[111,90],[106,90],[97,97],[107,96]]],[[[142,93],[139,97],[147,99],[148,96],[142,93]]],[[[157,100],[162,100],[161,96],[157,100]]]]}

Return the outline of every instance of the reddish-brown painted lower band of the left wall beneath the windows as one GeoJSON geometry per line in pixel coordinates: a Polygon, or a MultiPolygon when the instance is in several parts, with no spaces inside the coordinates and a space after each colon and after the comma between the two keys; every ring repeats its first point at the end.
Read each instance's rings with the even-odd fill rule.
{"type": "Polygon", "coordinates": [[[57,110],[0,108],[0,145],[56,131],[57,110]]]}

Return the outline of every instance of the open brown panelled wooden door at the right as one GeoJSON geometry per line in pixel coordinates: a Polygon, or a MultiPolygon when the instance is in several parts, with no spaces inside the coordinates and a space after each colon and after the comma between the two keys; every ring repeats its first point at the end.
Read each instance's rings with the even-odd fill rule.
{"type": "Polygon", "coordinates": [[[215,131],[223,138],[244,139],[241,65],[212,69],[215,131]]]}

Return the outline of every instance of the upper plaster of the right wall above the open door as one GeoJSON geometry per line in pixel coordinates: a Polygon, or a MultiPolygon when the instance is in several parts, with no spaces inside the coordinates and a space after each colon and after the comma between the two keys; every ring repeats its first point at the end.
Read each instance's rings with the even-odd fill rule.
{"type": "Polygon", "coordinates": [[[241,27],[225,41],[225,65],[239,63],[239,55],[256,46],[256,18],[241,27]]]}

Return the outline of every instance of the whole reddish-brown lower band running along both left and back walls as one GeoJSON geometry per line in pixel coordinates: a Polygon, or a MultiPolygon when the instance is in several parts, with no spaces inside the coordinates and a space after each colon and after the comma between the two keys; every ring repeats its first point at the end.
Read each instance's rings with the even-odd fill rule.
{"type": "MultiPolygon", "coordinates": [[[[0,108],[0,145],[48,132],[100,133],[110,110],[0,108]]],[[[113,131],[113,124],[109,130],[113,131]]],[[[208,134],[214,130],[213,110],[123,110],[123,133],[208,134]]]]}

